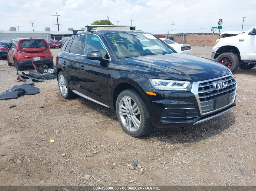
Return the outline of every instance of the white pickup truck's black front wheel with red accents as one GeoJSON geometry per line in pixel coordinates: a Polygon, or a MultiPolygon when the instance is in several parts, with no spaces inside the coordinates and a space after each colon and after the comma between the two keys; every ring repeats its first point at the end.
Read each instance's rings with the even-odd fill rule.
{"type": "Polygon", "coordinates": [[[227,66],[231,72],[235,72],[239,66],[239,59],[234,53],[222,53],[216,58],[216,61],[227,66]]]}

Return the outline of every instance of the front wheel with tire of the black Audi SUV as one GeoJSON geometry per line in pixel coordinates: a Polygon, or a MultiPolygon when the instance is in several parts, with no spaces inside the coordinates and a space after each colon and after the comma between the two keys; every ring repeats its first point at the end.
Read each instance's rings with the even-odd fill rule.
{"type": "Polygon", "coordinates": [[[153,130],[146,104],[133,89],[124,90],[118,95],[116,114],[122,129],[128,135],[140,137],[153,130]]]}

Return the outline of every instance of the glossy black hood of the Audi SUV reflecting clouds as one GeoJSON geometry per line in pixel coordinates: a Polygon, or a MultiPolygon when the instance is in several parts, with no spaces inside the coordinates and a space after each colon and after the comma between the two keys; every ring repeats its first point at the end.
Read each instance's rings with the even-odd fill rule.
{"type": "Polygon", "coordinates": [[[230,74],[229,70],[211,59],[185,54],[162,54],[120,59],[118,68],[148,78],[203,81],[230,74]]]}

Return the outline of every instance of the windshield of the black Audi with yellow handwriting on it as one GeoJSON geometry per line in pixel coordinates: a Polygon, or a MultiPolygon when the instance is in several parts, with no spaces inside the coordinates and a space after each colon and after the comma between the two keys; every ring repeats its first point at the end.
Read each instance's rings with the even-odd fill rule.
{"type": "Polygon", "coordinates": [[[106,40],[119,58],[174,53],[161,40],[149,33],[107,33],[106,40]]]}

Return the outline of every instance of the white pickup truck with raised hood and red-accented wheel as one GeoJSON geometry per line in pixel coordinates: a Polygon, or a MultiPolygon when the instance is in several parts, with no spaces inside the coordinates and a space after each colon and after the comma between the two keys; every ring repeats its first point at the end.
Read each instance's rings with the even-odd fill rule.
{"type": "Polygon", "coordinates": [[[223,32],[212,48],[211,58],[227,66],[231,72],[251,69],[256,64],[256,26],[246,32],[223,32]]]}

